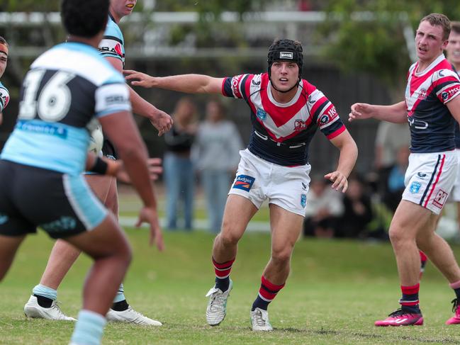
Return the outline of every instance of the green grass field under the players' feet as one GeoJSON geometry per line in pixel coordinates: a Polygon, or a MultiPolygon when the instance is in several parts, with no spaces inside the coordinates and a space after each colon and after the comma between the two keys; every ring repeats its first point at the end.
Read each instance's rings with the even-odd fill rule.
{"type": "MultiPolygon", "coordinates": [[[[108,324],[103,344],[459,344],[460,328],[444,325],[453,293],[429,264],[422,281],[423,327],[376,328],[376,318],[398,307],[399,285],[389,244],[301,240],[291,277],[270,306],[274,332],[249,329],[249,308],[269,259],[269,234],[246,234],[232,271],[228,315],[219,327],[206,324],[204,297],[213,283],[206,232],[165,234],[166,251],[147,247],[147,231],[128,230],[135,257],[125,279],[133,307],[164,327],[108,324]]],[[[70,322],[28,320],[22,308],[38,283],[52,242],[30,236],[0,284],[0,344],[67,344],[70,322]]],[[[455,247],[456,254],[460,248],[455,247]]],[[[458,256],[458,255],[457,255],[458,256]]],[[[77,261],[59,291],[62,309],[76,316],[90,261],[77,261]]]]}

